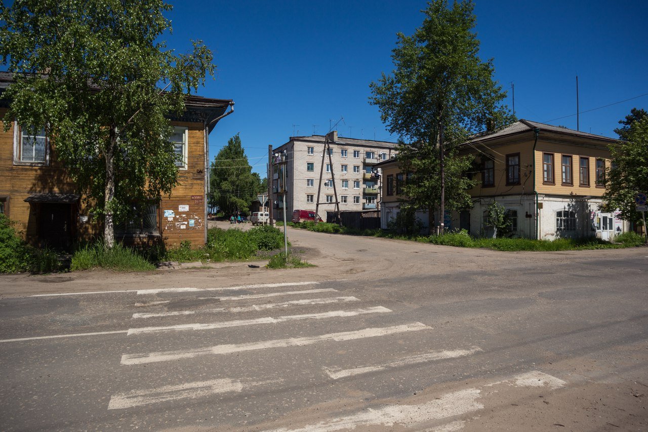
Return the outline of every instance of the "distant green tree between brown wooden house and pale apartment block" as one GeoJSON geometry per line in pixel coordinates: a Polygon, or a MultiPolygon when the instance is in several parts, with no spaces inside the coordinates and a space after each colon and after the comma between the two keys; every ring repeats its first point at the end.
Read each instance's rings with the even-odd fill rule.
{"type": "Polygon", "coordinates": [[[211,163],[209,185],[211,204],[226,216],[239,211],[248,214],[252,201],[268,190],[262,189],[259,174],[252,172],[238,134],[227,140],[211,163]]]}

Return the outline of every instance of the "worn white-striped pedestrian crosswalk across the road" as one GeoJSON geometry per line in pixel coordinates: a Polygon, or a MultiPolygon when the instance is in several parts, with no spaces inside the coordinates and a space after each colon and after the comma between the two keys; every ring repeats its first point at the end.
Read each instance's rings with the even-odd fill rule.
{"type": "MultiPolygon", "coordinates": [[[[434,334],[434,328],[415,320],[401,320],[399,315],[388,307],[379,304],[363,305],[362,298],[341,295],[338,289],[318,285],[314,282],[244,285],[235,287],[237,289],[220,289],[220,292],[219,289],[133,290],[138,296],[148,295],[150,298],[140,299],[133,305],[139,310],[132,314],[126,337],[135,343],[128,344],[130,348],[122,353],[119,364],[122,367],[129,366],[135,374],[138,373],[138,368],[148,366],[147,372],[150,373],[151,368],[155,370],[164,365],[180,368],[185,363],[189,365],[187,362],[193,362],[189,367],[202,365],[196,363],[197,361],[218,365],[220,361],[239,361],[239,355],[255,353],[255,357],[246,357],[246,361],[263,365],[266,357],[281,353],[281,350],[292,350],[293,354],[307,350],[346,352],[353,349],[354,344],[361,342],[370,353],[380,354],[365,355],[362,358],[369,361],[358,365],[336,363],[338,357],[335,356],[310,355],[314,366],[310,371],[314,375],[312,379],[319,383],[333,384],[340,380],[347,382],[349,379],[362,378],[367,374],[398,371],[406,366],[459,359],[481,352],[479,346],[454,346],[443,350],[422,349],[418,350],[419,354],[411,354],[411,351],[402,354],[404,351],[394,348],[389,354],[389,347],[393,348],[394,345],[384,344],[382,341],[386,337],[398,335],[398,341],[402,342],[402,338],[434,334]],[[200,292],[209,292],[209,296],[201,295],[200,292]],[[183,294],[193,295],[193,300],[198,302],[189,302],[193,307],[179,307],[185,304],[178,301],[178,295],[183,294]],[[217,303],[218,307],[213,307],[213,303],[217,303]],[[356,305],[363,307],[349,307],[356,305]],[[382,316],[391,318],[378,320],[378,317],[382,316]],[[199,318],[203,318],[203,322],[196,322],[201,321],[199,318]],[[291,323],[306,323],[306,326],[295,327],[291,323]],[[376,326],[376,323],[384,325],[376,326]],[[236,328],[249,329],[244,333],[246,340],[235,339],[232,337],[233,333],[224,333],[236,328]],[[321,331],[322,329],[332,331],[321,331]],[[192,335],[194,332],[201,332],[196,335],[209,334],[210,337],[205,338],[204,343],[203,339],[196,339],[199,346],[187,342],[185,348],[174,348],[174,341],[177,342],[177,339],[169,339],[173,335],[192,335]],[[139,339],[147,335],[157,337],[139,339]],[[218,343],[209,343],[214,340],[211,337],[218,339],[218,343]]],[[[240,376],[232,376],[232,370],[230,368],[227,370],[229,372],[221,372],[220,368],[216,367],[212,371],[214,376],[201,381],[187,379],[186,382],[173,381],[162,385],[164,380],[161,379],[162,382],[158,382],[158,386],[117,392],[111,396],[108,409],[131,409],[158,403],[174,404],[199,398],[227,398],[228,395],[252,392],[264,386],[266,389],[277,391],[283,385],[287,385],[291,374],[296,372],[290,368],[281,368],[273,371],[274,376],[271,379],[260,372],[258,376],[251,376],[248,371],[245,374],[241,371],[240,376]],[[230,376],[227,376],[227,373],[230,376]]],[[[502,385],[504,382],[499,381],[492,385],[502,385]]],[[[539,372],[535,375],[518,376],[510,382],[520,386],[539,385],[551,389],[564,384],[539,372]]],[[[336,431],[358,426],[371,429],[374,426],[389,427],[397,423],[410,427],[439,419],[448,419],[445,423],[447,427],[463,427],[463,423],[457,422],[456,416],[483,409],[480,394],[481,389],[468,388],[450,392],[439,400],[410,405],[384,405],[361,413],[321,420],[296,429],[279,428],[277,431],[336,431]],[[419,414],[422,411],[428,414],[421,417],[419,414]]]]}

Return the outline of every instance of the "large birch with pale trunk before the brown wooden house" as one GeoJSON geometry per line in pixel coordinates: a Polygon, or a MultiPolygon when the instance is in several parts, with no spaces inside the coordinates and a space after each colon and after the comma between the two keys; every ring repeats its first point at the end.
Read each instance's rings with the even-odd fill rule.
{"type": "Polygon", "coordinates": [[[213,76],[202,42],[187,54],[159,42],[171,9],[160,0],[16,0],[0,12],[0,55],[15,73],[5,128],[16,119],[45,129],[104,216],[108,247],[133,202],[157,202],[178,184],[168,116],[213,76]]]}

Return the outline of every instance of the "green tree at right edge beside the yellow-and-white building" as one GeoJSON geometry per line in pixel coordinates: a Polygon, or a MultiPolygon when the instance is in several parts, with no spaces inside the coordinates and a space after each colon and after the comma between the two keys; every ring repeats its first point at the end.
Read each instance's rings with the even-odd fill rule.
{"type": "MultiPolygon", "coordinates": [[[[626,117],[627,118],[627,117],[626,117]]],[[[627,129],[627,139],[610,145],[612,166],[605,173],[605,211],[621,210],[621,219],[640,222],[636,211],[637,193],[648,193],[648,116],[634,121],[627,129]]]]}

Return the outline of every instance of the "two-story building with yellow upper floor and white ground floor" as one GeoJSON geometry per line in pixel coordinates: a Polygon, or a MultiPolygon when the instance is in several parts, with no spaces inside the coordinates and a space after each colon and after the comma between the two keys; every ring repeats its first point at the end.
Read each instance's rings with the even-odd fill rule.
{"type": "MultiPolygon", "coordinates": [[[[616,139],[520,120],[498,132],[474,136],[462,154],[474,156],[473,206],[448,212],[445,228],[491,235],[487,208],[498,202],[511,221],[509,235],[531,239],[599,237],[612,239],[627,229],[618,213],[598,210],[616,139]]],[[[382,163],[382,226],[396,217],[399,184],[406,181],[396,160],[382,163]]],[[[417,215],[423,224],[425,211],[417,215]]]]}

